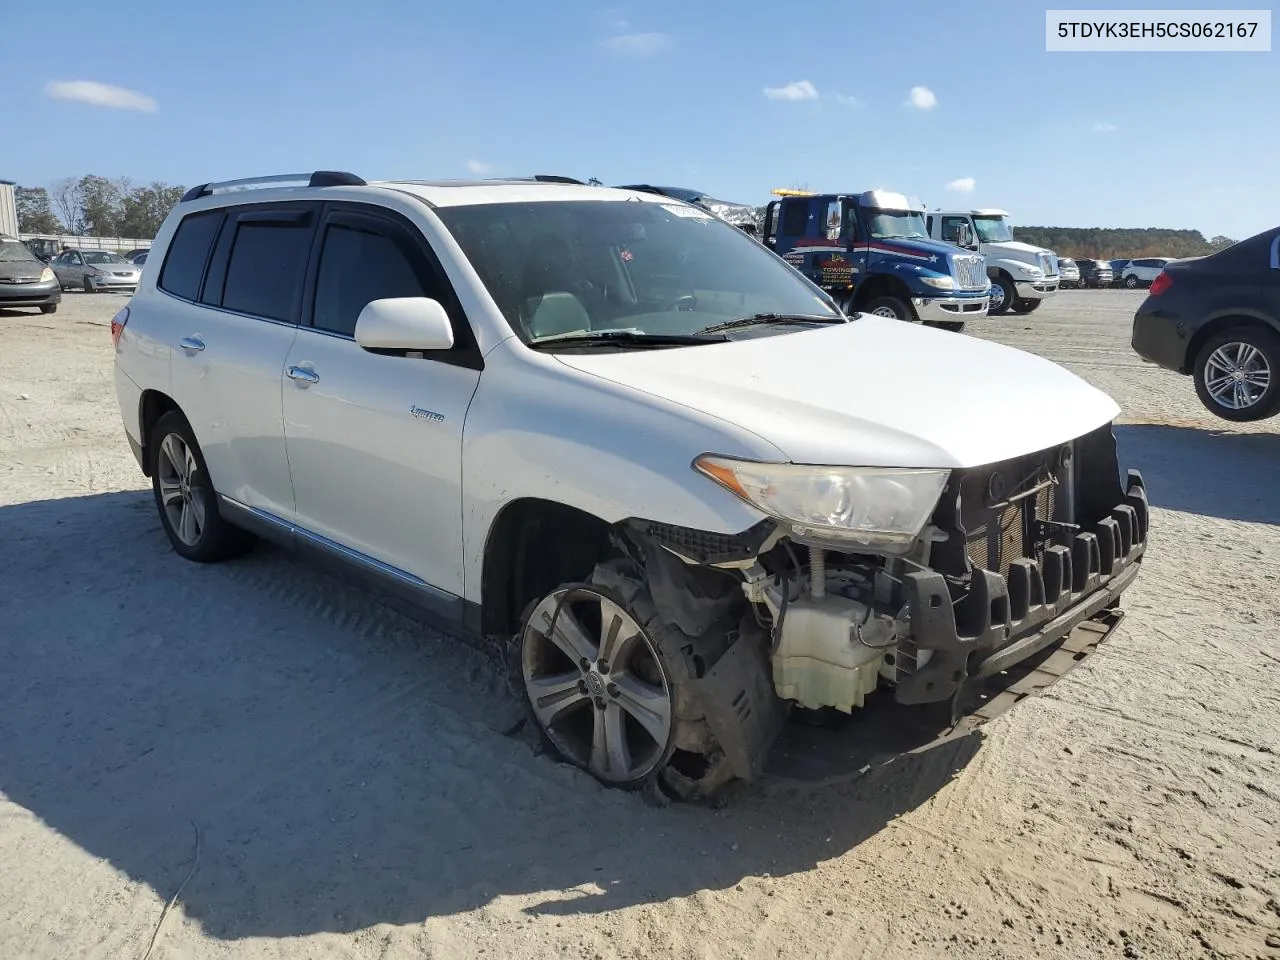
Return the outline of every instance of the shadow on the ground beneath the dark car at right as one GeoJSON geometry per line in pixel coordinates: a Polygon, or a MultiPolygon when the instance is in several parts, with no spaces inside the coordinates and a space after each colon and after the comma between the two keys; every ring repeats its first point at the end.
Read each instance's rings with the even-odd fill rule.
{"type": "Polygon", "coordinates": [[[1115,434],[1153,507],[1280,524],[1280,434],[1164,424],[1117,425],[1115,434]]]}

